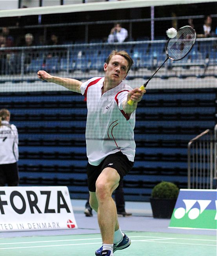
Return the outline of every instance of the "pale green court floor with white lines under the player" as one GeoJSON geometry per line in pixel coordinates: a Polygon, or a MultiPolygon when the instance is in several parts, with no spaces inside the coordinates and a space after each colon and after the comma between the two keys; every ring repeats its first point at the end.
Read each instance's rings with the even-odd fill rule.
{"type": "MultiPolygon", "coordinates": [[[[216,237],[156,232],[126,232],[127,249],[115,256],[216,256],[216,237]]],[[[95,256],[100,234],[27,236],[0,239],[1,256],[95,256]]]]}

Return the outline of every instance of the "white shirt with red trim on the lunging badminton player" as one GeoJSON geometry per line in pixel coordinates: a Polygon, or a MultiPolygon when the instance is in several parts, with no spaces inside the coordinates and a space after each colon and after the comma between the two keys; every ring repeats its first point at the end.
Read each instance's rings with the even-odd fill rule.
{"type": "Polygon", "coordinates": [[[109,154],[121,151],[129,161],[135,157],[135,111],[130,115],[122,108],[131,87],[121,82],[102,95],[104,78],[94,77],[82,83],[80,89],[86,97],[88,115],[86,145],[88,161],[99,165],[109,154]]]}

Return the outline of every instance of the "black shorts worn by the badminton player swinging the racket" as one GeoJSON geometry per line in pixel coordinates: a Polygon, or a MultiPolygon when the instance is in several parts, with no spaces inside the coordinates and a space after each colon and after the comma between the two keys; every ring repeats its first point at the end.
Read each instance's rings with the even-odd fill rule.
{"type": "Polygon", "coordinates": [[[120,181],[133,168],[133,163],[128,160],[122,152],[108,155],[99,165],[87,165],[88,174],[88,189],[91,192],[96,192],[96,181],[100,173],[106,167],[115,169],[120,175],[120,181]],[[112,163],[112,164],[111,164],[112,163]]]}

